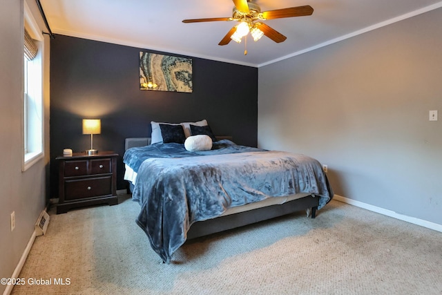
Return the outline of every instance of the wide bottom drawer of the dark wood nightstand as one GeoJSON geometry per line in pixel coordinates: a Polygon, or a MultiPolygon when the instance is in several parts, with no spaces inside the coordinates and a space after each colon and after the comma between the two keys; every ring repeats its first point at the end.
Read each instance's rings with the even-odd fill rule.
{"type": "Polygon", "coordinates": [[[64,200],[112,196],[112,175],[100,178],[65,180],[64,200]]]}

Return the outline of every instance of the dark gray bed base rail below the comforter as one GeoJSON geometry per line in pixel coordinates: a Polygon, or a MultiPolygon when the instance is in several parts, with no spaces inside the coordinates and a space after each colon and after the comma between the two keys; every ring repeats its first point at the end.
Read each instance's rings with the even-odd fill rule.
{"type": "Polygon", "coordinates": [[[252,223],[269,220],[271,218],[310,208],[311,218],[315,218],[318,204],[319,197],[307,196],[284,204],[275,204],[269,207],[262,207],[209,220],[198,221],[191,225],[189,231],[187,231],[187,240],[208,236],[220,231],[227,231],[228,229],[243,227],[244,225],[251,225],[252,223]]]}

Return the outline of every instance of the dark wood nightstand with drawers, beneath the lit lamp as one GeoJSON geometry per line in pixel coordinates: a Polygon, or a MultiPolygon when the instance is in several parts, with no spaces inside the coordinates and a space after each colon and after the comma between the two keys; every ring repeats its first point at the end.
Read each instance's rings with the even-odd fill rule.
{"type": "Polygon", "coordinates": [[[118,204],[117,157],[113,151],[60,156],[57,214],[69,209],[108,203],[118,204]]]}

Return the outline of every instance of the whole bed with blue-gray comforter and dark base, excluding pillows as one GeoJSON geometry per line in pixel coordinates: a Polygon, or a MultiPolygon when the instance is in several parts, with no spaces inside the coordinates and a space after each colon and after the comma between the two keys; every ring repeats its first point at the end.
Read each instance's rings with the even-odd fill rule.
{"type": "MultiPolygon", "coordinates": [[[[322,166],[306,155],[240,146],[213,134],[211,149],[189,151],[165,137],[152,144],[152,131],[152,137],[126,139],[124,179],[140,204],[137,225],[165,263],[188,239],[294,211],[314,218],[333,197],[322,166]]],[[[198,136],[184,140],[192,137],[198,136]]]]}

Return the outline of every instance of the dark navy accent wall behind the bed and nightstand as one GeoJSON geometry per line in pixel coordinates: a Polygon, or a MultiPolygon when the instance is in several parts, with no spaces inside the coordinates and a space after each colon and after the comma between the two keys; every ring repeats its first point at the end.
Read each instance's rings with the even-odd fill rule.
{"type": "MultiPolygon", "coordinates": [[[[138,60],[144,48],[57,35],[50,41],[50,188],[58,196],[55,158],[69,148],[84,151],[90,135],[81,134],[83,118],[102,120],[94,148],[119,153],[117,189],[123,180],[124,139],[150,137],[151,121],[206,119],[215,135],[256,146],[258,68],[189,57],[193,93],[140,91],[138,60]]],[[[180,55],[175,55],[180,56],[180,55]]]]}

